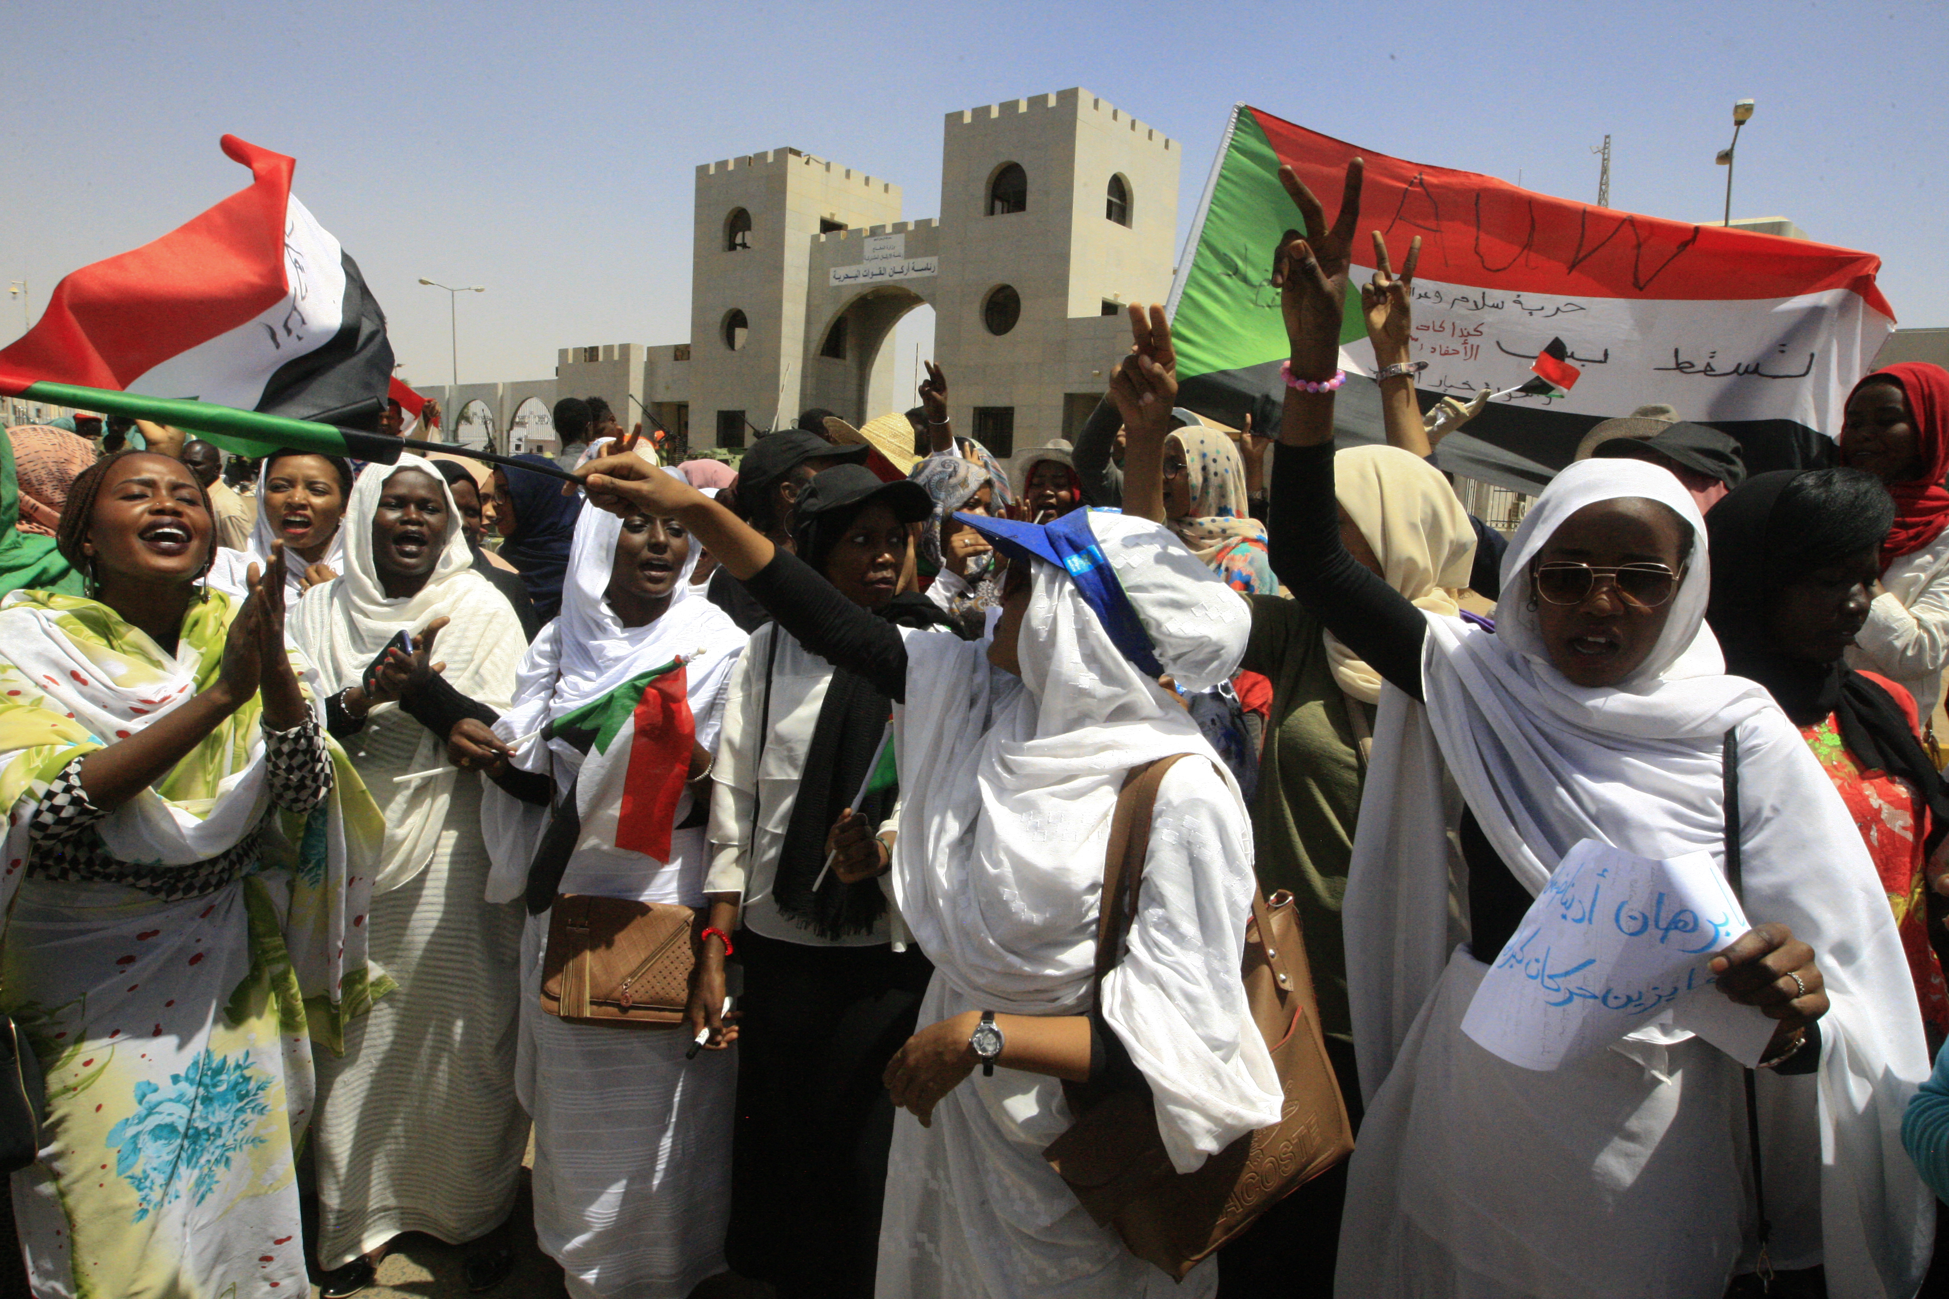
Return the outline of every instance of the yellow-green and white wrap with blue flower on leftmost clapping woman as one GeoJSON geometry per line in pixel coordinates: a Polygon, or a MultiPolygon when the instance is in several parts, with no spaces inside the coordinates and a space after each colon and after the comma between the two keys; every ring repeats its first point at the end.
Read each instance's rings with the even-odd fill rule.
{"type": "Polygon", "coordinates": [[[12,1192],[43,1299],[310,1293],[312,1042],[390,987],[363,937],[378,808],[314,717],[269,730],[255,697],[119,808],[80,779],[216,678],[232,612],[193,606],[173,654],[90,600],[0,612],[4,1007],[47,1081],[12,1192]]]}

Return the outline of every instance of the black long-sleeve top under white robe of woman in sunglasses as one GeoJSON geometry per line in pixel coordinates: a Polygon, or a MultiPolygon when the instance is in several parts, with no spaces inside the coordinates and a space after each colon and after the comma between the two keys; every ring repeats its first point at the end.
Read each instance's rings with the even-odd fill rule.
{"type": "MultiPolygon", "coordinates": [[[[1341,543],[1333,497],[1333,444],[1280,446],[1273,464],[1279,508],[1267,526],[1273,571],[1327,631],[1366,660],[1390,686],[1425,701],[1421,647],[1429,623],[1407,596],[1362,567],[1341,543]]],[[[1458,830],[1468,863],[1470,950],[1495,960],[1530,909],[1530,892],[1489,843],[1473,808],[1458,830]]],[[[1811,1073],[1820,1061],[1820,1024],[1807,1026],[1807,1044],[1779,1073],[1811,1073]]]]}

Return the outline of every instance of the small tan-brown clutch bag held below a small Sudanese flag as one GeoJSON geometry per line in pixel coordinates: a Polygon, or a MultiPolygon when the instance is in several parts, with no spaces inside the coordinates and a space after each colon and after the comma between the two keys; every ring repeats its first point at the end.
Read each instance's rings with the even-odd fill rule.
{"type": "Polygon", "coordinates": [[[686,906],[555,894],[542,1009],[577,1024],[674,1028],[702,931],[704,913],[686,906]]]}

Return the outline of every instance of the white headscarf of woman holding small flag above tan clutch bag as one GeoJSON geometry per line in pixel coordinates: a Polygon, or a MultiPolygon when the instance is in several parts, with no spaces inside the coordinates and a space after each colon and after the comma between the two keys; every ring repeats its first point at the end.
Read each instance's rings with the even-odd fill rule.
{"type": "MultiPolygon", "coordinates": [[[[606,442],[606,438],[604,438],[606,442]]],[[[622,520],[608,510],[585,508],[575,520],[575,541],[569,547],[569,571],[561,584],[561,613],[542,629],[520,660],[515,680],[515,701],[495,734],[503,740],[522,740],[515,748],[515,765],[524,771],[550,773],[550,760],[559,760],[565,771],[583,763],[571,744],[546,742],[536,736],[550,721],[579,709],[622,686],[626,680],[682,656],[690,711],[698,724],[698,744],[715,748],[725,684],[746,635],[723,610],[690,584],[704,545],[690,539],[690,557],[676,575],[676,590],[663,617],[641,627],[624,627],[608,606],[610,573],[622,520]]],[[[678,824],[690,812],[690,795],[676,806],[678,824]]],[[[481,828],[493,855],[487,878],[489,902],[511,902],[526,886],[534,837],[544,824],[542,808],[528,808],[491,787],[481,808],[481,828]]]]}

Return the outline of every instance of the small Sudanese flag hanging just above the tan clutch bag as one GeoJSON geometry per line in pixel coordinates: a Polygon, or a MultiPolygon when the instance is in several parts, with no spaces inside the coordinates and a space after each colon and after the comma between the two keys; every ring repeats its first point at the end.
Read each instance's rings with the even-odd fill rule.
{"type": "Polygon", "coordinates": [[[698,734],[684,660],[637,672],[548,734],[587,754],[575,775],[579,845],[669,861],[698,734]]]}

